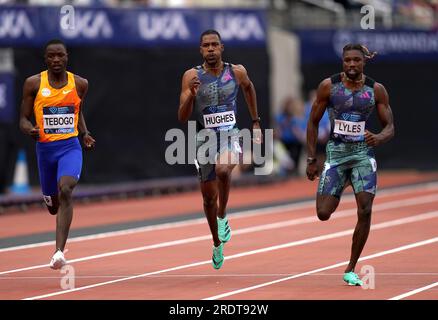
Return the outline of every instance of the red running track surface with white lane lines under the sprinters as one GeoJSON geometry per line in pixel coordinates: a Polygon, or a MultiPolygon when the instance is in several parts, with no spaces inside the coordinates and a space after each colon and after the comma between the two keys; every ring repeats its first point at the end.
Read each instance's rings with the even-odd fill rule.
{"type": "MultiPolygon", "coordinates": [[[[314,195],[316,184],[299,179],[232,190],[230,208],[266,208],[229,215],[233,237],[225,246],[220,270],[211,266],[211,236],[200,216],[69,241],[67,271],[70,275],[74,271],[74,289],[63,289],[65,273],[47,266],[53,244],[0,249],[0,298],[437,299],[438,286],[433,284],[438,282],[438,183],[426,183],[430,180],[438,176],[415,172],[379,176],[380,188],[400,188],[379,191],[375,200],[372,231],[356,268],[368,276],[367,288],[342,282],[356,223],[351,195],[342,198],[327,222],[315,217],[314,201],[269,206],[314,195]],[[418,182],[425,183],[402,187],[418,182]],[[420,288],[426,289],[415,291],[420,288]]],[[[80,205],[72,228],[197,211],[201,211],[198,192],[80,205]]],[[[53,231],[54,218],[36,210],[0,216],[0,226],[1,241],[53,231]]]]}

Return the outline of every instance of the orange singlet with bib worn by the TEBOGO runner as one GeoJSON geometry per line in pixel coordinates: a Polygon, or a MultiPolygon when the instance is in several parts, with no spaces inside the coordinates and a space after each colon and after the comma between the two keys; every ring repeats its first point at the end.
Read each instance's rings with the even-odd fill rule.
{"type": "Polygon", "coordinates": [[[81,98],[76,92],[74,74],[67,72],[67,84],[55,89],[49,84],[48,72],[41,72],[41,82],[33,105],[40,128],[39,142],[65,140],[78,135],[81,98]]]}

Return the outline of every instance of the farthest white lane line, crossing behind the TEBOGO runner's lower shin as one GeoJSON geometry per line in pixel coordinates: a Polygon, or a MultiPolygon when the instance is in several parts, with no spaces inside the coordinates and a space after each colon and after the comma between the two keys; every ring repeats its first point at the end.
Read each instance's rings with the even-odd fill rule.
{"type": "MultiPolygon", "coordinates": [[[[403,186],[403,187],[398,187],[398,188],[380,191],[379,192],[379,199],[385,198],[385,197],[390,197],[393,195],[399,195],[399,194],[401,195],[404,193],[411,193],[411,192],[417,191],[417,190],[432,191],[432,190],[436,190],[436,189],[438,189],[438,182],[431,182],[431,183],[426,183],[424,185],[416,185],[416,186],[403,186]]],[[[346,195],[342,198],[342,204],[352,203],[355,201],[356,200],[355,200],[353,195],[346,195]]],[[[309,200],[309,201],[302,201],[302,202],[297,202],[297,203],[293,203],[293,204],[269,206],[269,207],[265,207],[265,208],[261,208],[261,209],[237,211],[234,213],[229,213],[228,215],[229,215],[229,217],[232,217],[233,219],[238,219],[238,218],[246,218],[246,217],[258,216],[258,215],[264,215],[264,214],[275,214],[275,213],[281,213],[281,212],[286,212],[286,211],[290,211],[290,210],[299,210],[299,209],[313,208],[313,207],[315,207],[315,201],[309,200]]],[[[153,226],[129,228],[129,229],[120,230],[120,231],[102,232],[102,233],[91,234],[88,236],[71,237],[68,239],[68,243],[88,241],[88,240],[94,240],[94,239],[104,239],[104,238],[117,237],[117,236],[124,236],[127,234],[133,234],[133,233],[165,230],[165,229],[185,227],[185,226],[202,224],[202,223],[205,223],[204,217],[198,218],[198,219],[190,219],[190,220],[186,220],[186,221],[162,223],[162,224],[157,224],[157,225],[153,225],[153,226]]],[[[50,246],[50,245],[54,245],[54,244],[55,244],[55,241],[44,241],[44,242],[38,242],[38,243],[33,243],[33,244],[2,248],[2,249],[0,249],[0,253],[8,252],[8,251],[15,251],[15,250],[22,250],[22,249],[32,249],[32,248],[50,246]]]]}

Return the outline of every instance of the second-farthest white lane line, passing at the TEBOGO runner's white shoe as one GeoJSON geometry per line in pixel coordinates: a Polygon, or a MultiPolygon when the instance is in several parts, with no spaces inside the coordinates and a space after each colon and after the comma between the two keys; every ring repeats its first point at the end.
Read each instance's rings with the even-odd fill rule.
{"type": "MultiPolygon", "coordinates": [[[[376,212],[376,211],[381,211],[381,210],[401,208],[401,207],[406,207],[406,206],[410,206],[410,205],[425,204],[425,203],[430,203],[430,202],[438,202],[438,196],[437,195],[427,195],[427,196],[423,196],[423,197],[416,197],[413,199],[395,200],[395,201],[389,201],[386,203],[380,203],[380,204],[376,204],[374,206],[373,211],[376,212]]],[[[333,217],[331,219],[333,220],[333,219],[344,218],[344,217],[352,216],[355,214],[356,214],[356,209],[340,210],[335,215],[333,215],[333,217]]],[[[319,221],[318,218],[315,216],[303,217],[303,218],[279,221],[279,222],[274,222],[274,223],[269,223],[269,224],[262,224],[262,225],[247,227],[247,228],[243,228],[243,229],[236,229],[233,231],[233,235],[236,236],[239,234],[247,234],[247,233],[259,232],[259,231],[285,228],[285,227],[289,227],[289,226],[293,226],[293,225],[300,225],[300,224],[306,224],[306,223],[312,223],[312,222],[318,222],[318,221],[319,221]]],[[[209,240],[209,239],[211,239],[211,235],[203,235],[203,236],[185,238],[185,239],[174,240],[174,241],[160,242],[160,243],[153,244],[153,245],[147,245],[147,246],[141,246],[141,247],[136,247],[136,248],[117,250],[117,251],[110,251],[110,252],[101,253],[101,254],[97,254],[97,255],[91,255],[91,256],[86,256],[86,257],[82,257],[82,258],[72,259],[72,260],[69,260],[68,263],[73,264],[76,262],[101,259],[101,258],[116,256],[116,255],[120,255],[120,254],[128,254],[128,253],[134,253],[134,252],[146,251],[146,250],[152,250],[152,249],[158,249],[158,248],[165,248],[165,247],[171,247],[171,246],[177,246],[177,245],[184,245],[184,244],[188,244],[188,243],[205,241],[205,240],[209,240]]],[[[40,268],[47,268],[47,267],[48,267],[47,264],[34,265],[34,266],[30,266],[30,267],[1,271],[0,275],[10,274],[10,273],[15,273],[15,272],[22,272],[22,271],[29,271],[29,270],[40,269],[40,268]]]]}

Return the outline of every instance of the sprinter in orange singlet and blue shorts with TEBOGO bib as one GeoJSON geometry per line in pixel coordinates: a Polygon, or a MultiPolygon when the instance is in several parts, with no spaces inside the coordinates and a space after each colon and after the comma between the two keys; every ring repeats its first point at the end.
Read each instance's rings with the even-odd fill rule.
{"type": "Polygon", "coordinates": [[[82,113],[88,81],[66,70],[67,48],[60,40],[45,47],[47,70],[26,79],[20,129],[36,143],[40,184],[49,212],[56,217],[56,249],[52,269],[66,264],[64,247],[73,218],[72,192],[82,170],[82,148],[94,147],[82,113]],[[35,116],[36,125],[31,122],[35,116]],[[59,212],[58,212],[59,209],[59,212]]]}

